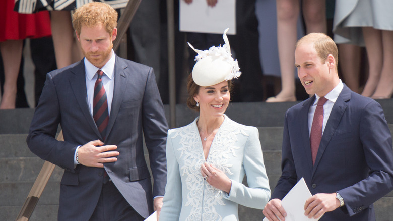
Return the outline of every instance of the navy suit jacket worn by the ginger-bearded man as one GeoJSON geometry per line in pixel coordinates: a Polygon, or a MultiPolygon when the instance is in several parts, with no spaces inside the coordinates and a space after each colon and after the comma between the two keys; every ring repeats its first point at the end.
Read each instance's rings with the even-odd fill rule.
{"type": "Polygon", "coordinates": [[[83,60],[47,74],[27,144],[40,158],[64,169],[59,220],[88,220],[99,199],[106,170],[128,203],[143,217],[153,212],[153,197],[164,195],[167,121],[153,69],[116,56],[114,91],[104,145],[117,145],[116,162],[103,168],[77,165],[78,145],[101,139],[87,103],[83,60]],[[64,142],[57,141],[60,124],[64,142]],[[143,150],[149,151],[152,184],[143,150]]]}

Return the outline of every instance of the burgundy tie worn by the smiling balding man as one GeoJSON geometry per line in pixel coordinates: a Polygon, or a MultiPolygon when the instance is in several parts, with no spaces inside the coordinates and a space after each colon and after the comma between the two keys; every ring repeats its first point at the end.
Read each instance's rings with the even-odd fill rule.
{"type": "Polygon", "coordinates": [[[323,104],[328,99],[320,97],[316,104],[314,119],[311,125],[310,144],[311,144],[311,156],[312,165],[315,163],[316,154],[318,153],[320,140],[322,138],[322,124],[323,124],[323,104]]]}

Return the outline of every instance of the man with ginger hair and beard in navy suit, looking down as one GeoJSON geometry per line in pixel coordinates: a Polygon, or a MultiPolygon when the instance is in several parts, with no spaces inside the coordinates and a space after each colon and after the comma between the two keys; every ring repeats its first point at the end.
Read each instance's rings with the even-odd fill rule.
{"type": "Polygon", "coordinates": [[[31,123],[30,150],[64,169],[58,220],[144,220],[161,209],[164,108],[153,69],[112,50],[116,25],[117,12],[107,4],[75,11],[73,26],[85,58],[47,74],[31,123]],[[63,142],[54,138],[59,124],[63,142]]]}

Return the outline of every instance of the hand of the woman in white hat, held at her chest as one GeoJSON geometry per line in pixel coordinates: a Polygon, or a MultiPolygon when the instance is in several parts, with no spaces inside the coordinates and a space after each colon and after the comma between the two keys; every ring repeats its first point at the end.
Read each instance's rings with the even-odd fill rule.
{"type": "Polygon", "coordinates": [[[201,174],[213,187],[227,193],[231,191],[232,181],[224,172],[220,171],[212,164],[205,162],[201,165],[201,174]]]}

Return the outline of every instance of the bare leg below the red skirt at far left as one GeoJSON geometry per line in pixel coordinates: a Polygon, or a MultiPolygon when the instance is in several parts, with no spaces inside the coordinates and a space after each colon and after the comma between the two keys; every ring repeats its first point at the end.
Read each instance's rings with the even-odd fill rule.
{"type": "Polygon", "coordinates": [[[0,109],[15,109],[17,79],[22,59],[23,40],[0,42],[4,64],[4,93],[0,109]]]}

